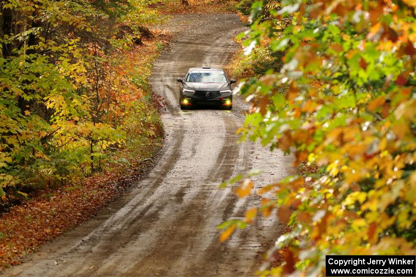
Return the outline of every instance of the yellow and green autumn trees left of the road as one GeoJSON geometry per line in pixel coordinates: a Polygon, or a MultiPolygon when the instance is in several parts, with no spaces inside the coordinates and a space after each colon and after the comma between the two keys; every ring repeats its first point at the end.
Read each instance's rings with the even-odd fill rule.
{"type": "Polygon", "coordinates": [[[65,185],[101,170],[110,149],[162,134],[149,65],[137,68],[147,54],[131,51],[152,36],[156,2],[1,0],[1,201],[65,185]]]}

